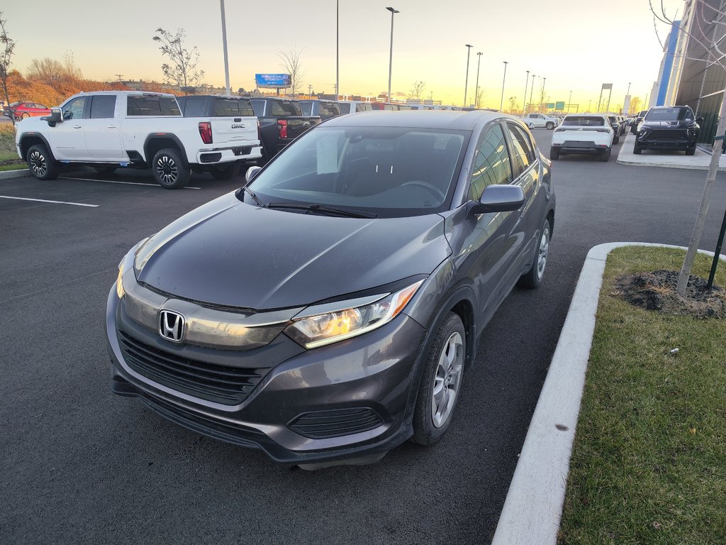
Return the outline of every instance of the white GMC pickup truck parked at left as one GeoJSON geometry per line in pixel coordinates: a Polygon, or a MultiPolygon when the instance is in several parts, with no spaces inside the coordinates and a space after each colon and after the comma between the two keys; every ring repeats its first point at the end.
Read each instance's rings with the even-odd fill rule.
{"type": "Polygon", "coordinates": [[[191,171],[230,179],[240,163],[261,157],[256,117],[183,117],[166,93],[91,92],[73,95],[43,118],[17,124],[20,158],[38,179],[63,165],[152,169],[161,187],[179,189],[191,171]]]}

